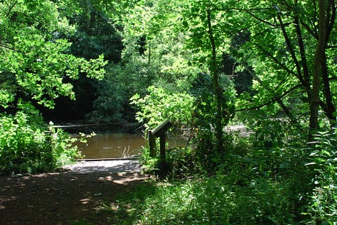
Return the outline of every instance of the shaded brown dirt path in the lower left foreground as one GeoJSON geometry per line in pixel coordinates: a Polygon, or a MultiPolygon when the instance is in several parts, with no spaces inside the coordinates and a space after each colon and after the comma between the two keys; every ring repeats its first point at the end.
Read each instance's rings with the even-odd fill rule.
{"type": "Polygon", "coordinates": [[[80,219],[104,224],[95,215],[146,177],[139,172],[53,172],[0,176],[0,224],[69,224],[80,219]]]}

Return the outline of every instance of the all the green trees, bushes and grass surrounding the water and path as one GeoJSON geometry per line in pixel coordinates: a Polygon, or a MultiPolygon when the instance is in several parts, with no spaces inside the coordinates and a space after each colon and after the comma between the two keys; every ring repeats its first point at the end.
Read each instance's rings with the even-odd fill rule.
{"type": "Polygon", "coordinates": [[[49,121],[170,119],[186,148],[144,149],[160,182],[102,206],[112,223],[336,224],[336,8],[0,1],[0,170],[73,159],[49,121]]]}

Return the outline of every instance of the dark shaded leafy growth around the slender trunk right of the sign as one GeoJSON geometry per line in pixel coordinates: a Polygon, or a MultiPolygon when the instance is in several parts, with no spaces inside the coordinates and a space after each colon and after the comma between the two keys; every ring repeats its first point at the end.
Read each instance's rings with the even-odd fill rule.
{"type": "Polygon", "coordinates": [[[226,146],[231,142],[228,135],[223,134],[222,148],[218,149],[217,127],[227,126],[235,112],[235,89],[232,81],[225,75],[220,75],[221,101],[218,102],[212,77],[200,74],[193,82],[191,93],[195,97],[193,111],[193,126],[198,129],[196,134],[196,158],[202,170],[214,172],[216,165],[224,158],[226,146]],[[218,109],[221,111],[221,121],[218,121],[218,109]],[[220,123],[220,124],[219,124],[220,123]]]}

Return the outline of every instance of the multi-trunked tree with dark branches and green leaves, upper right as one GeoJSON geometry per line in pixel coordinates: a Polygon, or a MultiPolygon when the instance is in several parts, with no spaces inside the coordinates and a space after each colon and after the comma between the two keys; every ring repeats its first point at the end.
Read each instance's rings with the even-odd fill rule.
{"type": "MultiPolygon", "coordinates": [[[[251,34],[247,43],[237,50],[240,53],[237,56],[242,65],[252,65],[255,77],[261,80],[264,91],[255,85],[265,94],[260,95],[260,106],[265,106],[266,101],[271,104],[294,99],[291,93],[302,90],[310,112],[310,130],[319,128],[319,106],[326,118],[333,121],[335,1],[277,1],[272,5],[267,1],[259,4],[245,1],[240,6],[228,1],[223,10],[228,21],[238,25],[232,28],[232,33],[248,30],[251,34]]],[[[291,111],[291,107],[288,105],[287,109],[291,111]]],[[[301,113],[291,112],[297,116],[301,113]]]]}

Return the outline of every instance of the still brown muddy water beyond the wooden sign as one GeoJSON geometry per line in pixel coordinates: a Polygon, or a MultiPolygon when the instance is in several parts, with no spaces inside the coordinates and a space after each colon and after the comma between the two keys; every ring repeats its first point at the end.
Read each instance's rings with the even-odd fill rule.
{"type": "MultiPolygon", "coordinates": [[[[169,147],[184,146],[181,138],[169,138],[169,147]]],[[[84,158],[121,158],[127,155],[139,155],[142,146],[146,146],[144,137],[130,133],[99,133],[87,138],[87,143],[76,143],[84,158]]]]}

